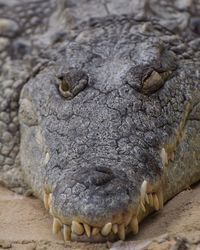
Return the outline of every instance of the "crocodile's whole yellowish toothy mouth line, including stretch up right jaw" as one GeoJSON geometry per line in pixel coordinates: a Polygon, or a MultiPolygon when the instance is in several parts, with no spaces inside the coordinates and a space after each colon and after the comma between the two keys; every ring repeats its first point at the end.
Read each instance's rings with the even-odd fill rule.
{"type": "MultiPolygon", "coordinates": [[[[190,111],[191,106],[187,105],[185,115],[175,135],[173,135],[173,139],[170,138],[160,149],[162,175],[154,178],[154,180],[144,179],[141,181],[137,198],[134,198],[134,204],[131,204],[130,201],[126,208],[118,209],[105,220],[102,218],[93,220],[80,215],[66,218],[54,207],[54,192],[45,187],[43,201],[45,208],[53,217],[53,233],[61,232],[65,241],[83,242],[125,240],[129,234],[137,234],[139,223],[147,215],[162,209],[164,202],[179,192],[173,190],[172,183],[174,180],[169,179],[171,177],[168,176],[168,173],[173,172],[172,165],[180,160],[179,156],[176,156],[176,151],[179,144],[184,140],[184,130],[190,111]]],[[[181,181],[184,183],[184,180],[181,181]]],[[[184,188],[186,186],[182,186],[180,189],[183,190],[184,188]]]]}

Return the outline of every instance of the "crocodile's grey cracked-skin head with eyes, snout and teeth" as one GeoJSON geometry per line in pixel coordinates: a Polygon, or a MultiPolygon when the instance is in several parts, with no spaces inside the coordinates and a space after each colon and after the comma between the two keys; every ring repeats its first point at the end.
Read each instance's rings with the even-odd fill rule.
{"type": "Polygon", "coordinates": [[[84,27],[21,93],[22,167],[65,239],[123,240],[199,179],[197,69],[145,25],[84,27]]]}

